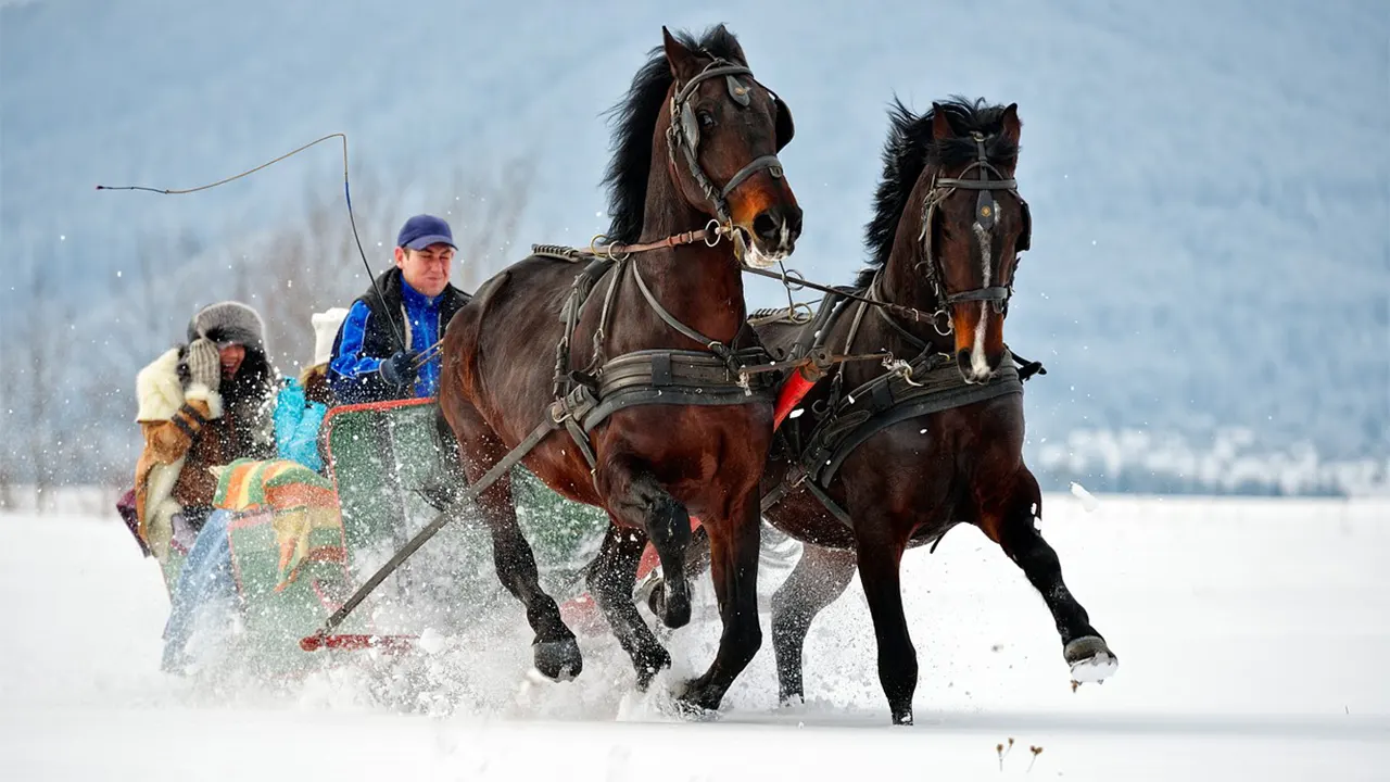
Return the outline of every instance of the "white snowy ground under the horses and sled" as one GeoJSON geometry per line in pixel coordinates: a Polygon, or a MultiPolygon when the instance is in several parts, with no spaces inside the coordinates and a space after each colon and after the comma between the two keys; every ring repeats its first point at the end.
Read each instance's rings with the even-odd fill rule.
{"type": "MultiPolygon", "coordinates": [[[[1390,502],[1049,495],[1042,530],[1118,675],[1073,693],[1042,601],[960,529],[905,561],[922,682],[890,728],[858,584],[806,705],[776,708],[769,640],[717,721],[674,724],[606,637],[523,692],[520,611],[396,678],[164,676],[167,598],[114,515],[0,515],[0,779],[1390,778],[1390,502]]],[[[716,636],[678,630],[673,676],[716,636]]]]}

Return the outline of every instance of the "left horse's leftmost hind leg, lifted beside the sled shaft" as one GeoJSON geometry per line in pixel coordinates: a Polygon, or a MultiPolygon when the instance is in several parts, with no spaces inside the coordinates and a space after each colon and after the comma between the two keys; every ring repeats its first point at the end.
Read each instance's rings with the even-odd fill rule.
{"type": "MultiPolygon", "coordinates": [[[[471,413],[471,409],[468,412],[471,413]]],[[[471,437],[460,437],[459,447],[464,454],[474,456],[463,459],[463,468],[468,481],[477,483],[492,465],[502,461],[506,448],[491,429],[485,429],[477,413],[471,413],[470,417],[474,419],[467,422],[471,424],[467,427],[471,437]]],[[[550,679],[578,676],[584,669],[580,646],[560,618],[560,607],[555,598],[541,589],[535,554],[517,525],[512,500],[512,474],[503,473],[478,495],[477,504],[492,533],[492,561],[498,579],[525,607],[527,622],[535,630],[531,647],[537,671],[550,679]]]]}

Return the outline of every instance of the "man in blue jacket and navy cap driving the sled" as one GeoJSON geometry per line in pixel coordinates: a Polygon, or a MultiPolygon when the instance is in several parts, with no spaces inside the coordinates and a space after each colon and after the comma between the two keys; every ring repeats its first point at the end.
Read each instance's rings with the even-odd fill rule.
{"type": "Polygon", "coordinates": [[[328,384],[342,404],[438,395],[439,352],[414,365],[471,298],[449,284],[457,249],[439,217],[417,214],[400,227],[395,269],[352,303],[334,341],[328,384]]]}

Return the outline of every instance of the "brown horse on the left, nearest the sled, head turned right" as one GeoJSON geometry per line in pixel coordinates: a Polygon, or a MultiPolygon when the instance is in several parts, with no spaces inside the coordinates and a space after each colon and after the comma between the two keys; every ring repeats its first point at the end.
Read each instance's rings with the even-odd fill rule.
{"type": "MultiPolygon", "coordinates": [[[[766,352],[746,327],[739,264],[788,256],[802,216],[776,157],[791,114],[737,39],[723,25],[699,40],[663,33],[613,109],[606,246],[537,248],[481,285],[446,330],[439,402],[470,483],[539,436],[525,466],[607,511],[588,583],[641,689],[670,655],[632,604],[638,558],[649,538],[680,573],[688,518],[703,520],[724,633],[680,700],[717,708],[762,643],[758,480],[773,434],[771,392],[742,373],[766,352]]],[[[478,505],[498,575],[535,630],[537,669],[577,675],[580,648],[538,583],[509,480],[478,505]]],[[[685,579],[667,584],[659,615],[689,621],[685,579]]]]}

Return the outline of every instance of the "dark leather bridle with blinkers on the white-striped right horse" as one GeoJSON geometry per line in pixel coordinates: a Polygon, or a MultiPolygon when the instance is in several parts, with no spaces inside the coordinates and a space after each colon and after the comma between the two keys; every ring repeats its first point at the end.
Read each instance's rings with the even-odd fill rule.
{"type": "Polygon", "coordinates": [[[954,294],[947,292],[945,271],[941,267],[941,259],[933,252],[931,246],[931,221],[935,217],[937,206],[940,206],[941,202],[958,189],[977,191],[980,193],[974,202],[973,228],[976,231],[976,237],[980,239],[980,250],[983,256],[981,263],[988,264],[992,260],[990,257],[991,252],[988,238],[994,232],[995,220],[999,212],[998,202],[994,199],[994,191],[1012,192],[1013,198],[1019,199],[1019,205],[1023,207],[1023,231],[1019,234],[1015,249],[1027,250],[1031,245],[1033,218],[1029,214],[1029,203],[1019,195],[1017,181],[1005,179],[999,174],[998,168],[990,164],[988,156],[984,152],[984,134],[980,131],[972,131],[970,138],[974,139],[977,149],[974,163],[966,166],[966,168],[960,171],[960,177],[933,177],[931,189],[922,202],[922,235],[917,237],[917,239],[922,242],[924,257],[917,263],[917,267],[924,267],[924,276],[927,282],[931,284],[933,295],[937,299],[937,310],[931,316],[931,326],[937,330],[937,334],[941,334],[942,337],[951,334],[954,330],[949,314],[951,305],[960,302],[991,302],[994,312],[1006,314],[1009,312],[1009,298],[1013,296],[1013,277],[1009,277],[1009,282],[1006,285],[986,285],[970,291],[958,291],[954,294]],[[980,173],[977,179],[963,178],[966,174],[976,170],[980,173]],[[998,178],[991,179],[990,173],[994,173],[998,178]],[[942,326],[942,323],[945,326],[942,326]]]}

